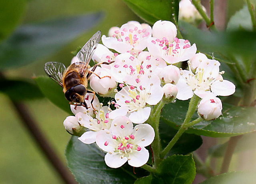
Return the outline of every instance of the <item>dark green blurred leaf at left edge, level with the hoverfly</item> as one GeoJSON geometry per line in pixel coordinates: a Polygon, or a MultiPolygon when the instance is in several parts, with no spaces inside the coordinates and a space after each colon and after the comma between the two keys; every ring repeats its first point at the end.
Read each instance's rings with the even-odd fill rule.
{"type": "Polygon", "coordinates": [[[33,81],[27,80],[0,80],[0,92],[5,93],[14,101],[43,98],[43,94],[33,81]]]}

